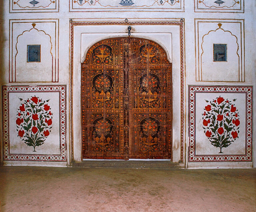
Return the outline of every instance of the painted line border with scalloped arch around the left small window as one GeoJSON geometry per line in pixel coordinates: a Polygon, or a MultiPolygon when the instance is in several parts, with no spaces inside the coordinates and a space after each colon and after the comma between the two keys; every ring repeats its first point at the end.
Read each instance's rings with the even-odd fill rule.
{"type": "MultiPolygon", "coordinates": [[[[45,35],[49,36],[51,49],[50,53],[52,55],[52,79],[47,82],[57,83],[59,82],[59,19],[10,19],[9,20],[9,83],[17,83],[16,81],[16,56],[18,54],[17,44],[19,36],[22,36],[25,32],[30,32],[31,30],[37,30],[38,32],[43,32],[45,35]],[[31,28],[24,30],[21,34],[19,34],[14,41],[13,38],[13,24],[17,23],[31,23],[31,28]],[[44,30],[38,30],[35,28],[37,23],[54,23],[55,24],[55,39],[52,39],[49,34],[47,34],[44,30]],[[54,45],[53,45],[54,43],[54,45]],[[16,45],[15,49],[17,51],[15,57],[13,58],[13,48],[16,45]],[[55,50],[55,54],[52,54],[52,49],[55,50]],[[14,63],[14,64],[13,64],[14,63]]],[[[41,82],[41,81],[33,81],[33,82],[41,82]]],[[[22,83],[28,83],[23,82],[22,83]]]]}

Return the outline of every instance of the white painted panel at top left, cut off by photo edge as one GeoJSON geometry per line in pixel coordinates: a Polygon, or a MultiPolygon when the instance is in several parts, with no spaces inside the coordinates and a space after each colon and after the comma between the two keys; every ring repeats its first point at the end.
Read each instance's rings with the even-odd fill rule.
{"type": "Polygon", "coordinates": [[[58,12],[59,0],[11,0],[10,13],[58,12]]]}

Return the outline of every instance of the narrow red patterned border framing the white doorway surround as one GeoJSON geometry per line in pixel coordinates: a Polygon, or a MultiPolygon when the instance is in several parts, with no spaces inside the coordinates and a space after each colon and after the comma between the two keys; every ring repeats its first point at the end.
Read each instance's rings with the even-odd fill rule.
{"type": "Polygon", "coordinates": [[[69,98],[70,98],[70,157],[71,161],[74,160],[74,147],[73,147],[73,61],[74,61],[74,27],[83,26],[83,25],[174,25],[180,27],[180,55],[181,55],[181,64],[180,64],[180,90],[181,90],[181,100],[180,100],[180,162],[184,163],[184,144],[185,144],[185,29],[184,29],[184,20],[180,19],[179,21],[157,21],[157,22],[145,22],[145,21],[134,21],[134,22],[76,22],[70,20],[70,88],[69,88],[69,98]]]}

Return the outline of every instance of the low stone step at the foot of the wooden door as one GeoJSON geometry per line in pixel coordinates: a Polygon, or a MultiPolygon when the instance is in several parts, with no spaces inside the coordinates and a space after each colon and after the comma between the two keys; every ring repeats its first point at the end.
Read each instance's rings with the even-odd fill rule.
{"type": "Polygon", "coordinates": [[[72,162],[71,165],[91,168],[179,169],[184,167],[184,164],[174,163],[170,160],[83,160],[82,162],[72,162]]]}

